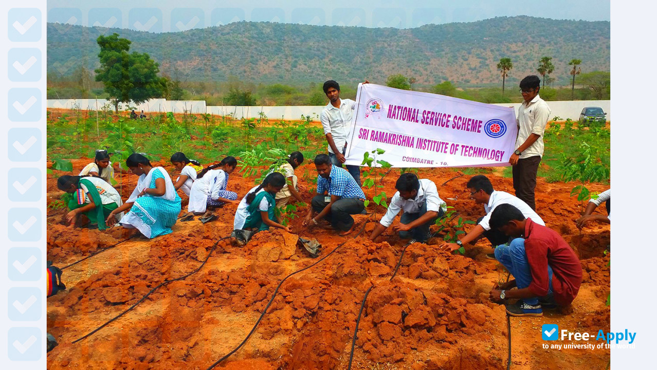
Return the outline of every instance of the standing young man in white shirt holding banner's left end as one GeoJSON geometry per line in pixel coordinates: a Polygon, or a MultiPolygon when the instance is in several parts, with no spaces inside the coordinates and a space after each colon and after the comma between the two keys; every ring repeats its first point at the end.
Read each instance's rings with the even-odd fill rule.
{"type": "MultiPolygon", "coordinates": [[[[328,158],[334,166],[342,167],[346,160],[344,153],[347,149],[347,135],[351,128],[351,118],[356,102],[351,99],[340,99],[340,85],[336,81],[326,81],[323,89],[329,102],[319,118],[328,142],[328,158]]],[[[360,166],[349,165],[347,170],[356,183],[361,185],[360,166]]]]}

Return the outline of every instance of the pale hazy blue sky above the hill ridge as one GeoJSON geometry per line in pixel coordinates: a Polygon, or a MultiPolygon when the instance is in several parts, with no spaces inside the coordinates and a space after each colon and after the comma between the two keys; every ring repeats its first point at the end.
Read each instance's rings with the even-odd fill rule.
{"type": "Polygon", "coordinates": [[[424,24],[474,22],[496,16],[610,20],[610,1],[134,1],[49,0],[48,22],[179,32],[240,20],[316,26],[415,28],[424,24]],[[181,3],[185,7],[181,7],[181,3]],[[112,5],[112,7],[110,7],[112,5]]]}

